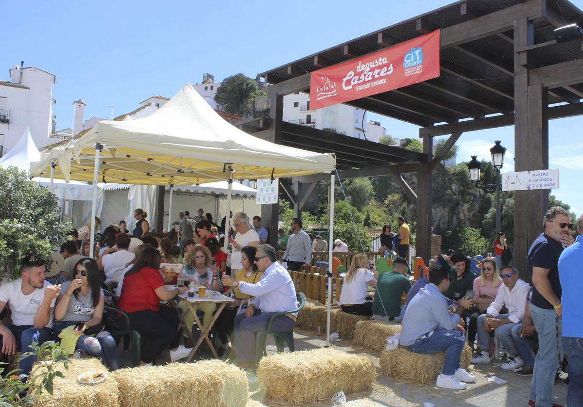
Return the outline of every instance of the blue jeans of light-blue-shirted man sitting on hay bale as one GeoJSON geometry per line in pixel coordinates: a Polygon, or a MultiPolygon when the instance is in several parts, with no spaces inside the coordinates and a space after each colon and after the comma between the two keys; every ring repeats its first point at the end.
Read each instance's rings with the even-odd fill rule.
{"type": "Polygon", "coordinates": [[[431,336],[423,335],[406,346],[414,353],[438,353],[445,351],[445,360],[441,369],[441,374],[451,376],[459,367],[459,357],[462,355],[463,345],[466,337],[462,331],[448,331],[437,328],[431,336]]]}

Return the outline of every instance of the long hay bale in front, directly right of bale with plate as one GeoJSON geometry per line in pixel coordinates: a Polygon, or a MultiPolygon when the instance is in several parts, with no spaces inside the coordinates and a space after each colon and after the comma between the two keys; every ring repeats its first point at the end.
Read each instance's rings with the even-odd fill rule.
{"type": "Polygon", "coordinates": [[[249,400],[245,372],[220,360],[141,366],[112,374],[124,407],[244,407],[249,400]]]}

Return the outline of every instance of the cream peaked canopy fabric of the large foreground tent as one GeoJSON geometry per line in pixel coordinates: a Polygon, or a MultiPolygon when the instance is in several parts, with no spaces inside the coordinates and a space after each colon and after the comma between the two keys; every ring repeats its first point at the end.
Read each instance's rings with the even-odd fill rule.
{"type": "MultiPolygon", "coordinates": [[[[59,151],[55,177],[93,181],[100,143],[99,181],[191,185],[229,179],[280,178],[332,172],[332,154],[286,147],[248,135],[224,121],[186,84],[163,107],[131,121],[100,121],[59,151]]],[[[46,153],[48,155],[50,153],[46,153]]],[[[31,165],[47,171],[47,160],[31,165]]]]}

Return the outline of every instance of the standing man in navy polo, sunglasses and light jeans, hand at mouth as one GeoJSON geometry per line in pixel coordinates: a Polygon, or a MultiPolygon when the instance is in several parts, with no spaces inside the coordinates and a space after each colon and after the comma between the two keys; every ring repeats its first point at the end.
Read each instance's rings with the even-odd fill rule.
{"type": "MultiPolygon", "coordinates": [[[[563,331],[559,257],[564,247],[574,242],[569,211],[559,206],[545,214],[545,231],[532,243],[526,257],[526,272],[531,278],[531,314],[539,335],[539,352],[531,381],[529,406],[553,405],[554,377],[563,360],[563,344],[558,341],[563,331]]],[[[575,282],[574,282],[575,283],[575,282]]]]}

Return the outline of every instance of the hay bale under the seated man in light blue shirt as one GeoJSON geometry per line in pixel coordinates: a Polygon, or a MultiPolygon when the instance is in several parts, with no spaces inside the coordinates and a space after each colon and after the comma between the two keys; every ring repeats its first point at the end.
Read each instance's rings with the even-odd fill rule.
{"type": "MultiPolygon", "coordinates": [[[[471,358],[472,349],[468,344],[465,344],[461,355],[463,369],[468,369],[471,358]]],[[[399,346],[393,351],[381,353],[381,373],[405,383],[433,383],[441,373],[444,360],[445,352],[428,355],[426,353],[413,353],[403,346],[399,346]]]]}

